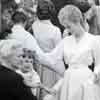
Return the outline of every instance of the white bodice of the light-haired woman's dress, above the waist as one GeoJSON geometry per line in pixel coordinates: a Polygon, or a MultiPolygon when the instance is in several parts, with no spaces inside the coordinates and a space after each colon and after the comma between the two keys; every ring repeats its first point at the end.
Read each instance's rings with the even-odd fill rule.
{"type": "Polygon", "coordinates": [[[93,62],[93,38],[86,33],[78,42],[73,36],[67,38],[64,42],[64,60],[66,64],[70,65],[91,65],[93,62]]]}

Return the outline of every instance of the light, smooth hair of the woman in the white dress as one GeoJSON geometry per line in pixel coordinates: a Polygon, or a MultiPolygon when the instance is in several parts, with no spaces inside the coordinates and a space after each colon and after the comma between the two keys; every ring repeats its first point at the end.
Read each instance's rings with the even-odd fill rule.
{"type": "Polygon", "coordinates": [[[63,7],[58,14],[58,18],[60,23],[66,27],[67,21],[70,21],[72,23],[82,23],[83,22],[83,16],[81,11],[78,9],[78,7],[74,5],[66,5],[63,7]]]}

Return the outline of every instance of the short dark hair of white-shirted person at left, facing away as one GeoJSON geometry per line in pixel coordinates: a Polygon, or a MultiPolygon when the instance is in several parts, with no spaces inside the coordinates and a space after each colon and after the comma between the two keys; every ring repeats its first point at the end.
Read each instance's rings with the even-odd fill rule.
{"type": "Polygon", "coordinates": [[[12,21],[13,23],[24,23],[27,20],[26,15],[21,12],[21,11],[16,11],[13,15],[12,15],[12,21]]]}

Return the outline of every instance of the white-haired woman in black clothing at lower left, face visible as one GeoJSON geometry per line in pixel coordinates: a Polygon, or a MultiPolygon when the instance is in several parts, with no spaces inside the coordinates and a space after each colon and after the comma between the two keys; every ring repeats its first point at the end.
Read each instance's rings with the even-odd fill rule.
{"type": "Polygon", "coordinates": [[[34,63],[34,52],[23,48],[21,42],[15,39],[0,41],[0,97],[3,100],[37,100],[36,88],[52,93],[41,84],[33,69],[34,63]]]}

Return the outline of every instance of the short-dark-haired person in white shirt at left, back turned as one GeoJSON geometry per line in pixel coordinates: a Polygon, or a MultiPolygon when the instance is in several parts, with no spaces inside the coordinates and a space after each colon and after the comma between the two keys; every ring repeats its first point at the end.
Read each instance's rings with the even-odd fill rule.
{"type": "Polygon", "coordinates": [[[12,33],[9,34],[7,39],[15,39],[22,42],[24,48],[29,50],[35,50],[38,48],[38,44],[36,43],[35,38],[25,30],[25,26],[27,23],[26,15],[21,11],[16,11],[12,15],[13,27],[11,29],[12,33]],[[33,45],[33,46],[32,46],[33,45]]]}

